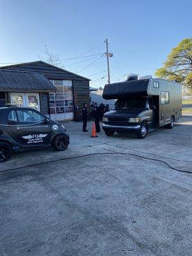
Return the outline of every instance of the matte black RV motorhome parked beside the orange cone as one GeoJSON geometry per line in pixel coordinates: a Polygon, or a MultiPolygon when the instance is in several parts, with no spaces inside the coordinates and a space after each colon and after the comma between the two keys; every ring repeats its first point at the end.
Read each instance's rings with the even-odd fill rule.
{"type": "Polygon", "coordinates": [[[135,132],[141,139],[158,127],[172,129],[182,115],[181,96],[181,85],[164,79],[132,77],[106,84],[102,97],[116,102],[104,114],[102,129],[108,136],[135,132]]]}

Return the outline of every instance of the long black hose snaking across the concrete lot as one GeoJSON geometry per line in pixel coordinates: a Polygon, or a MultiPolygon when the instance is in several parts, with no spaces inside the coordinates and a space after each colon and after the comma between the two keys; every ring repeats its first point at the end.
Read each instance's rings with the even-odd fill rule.
{"type": "Polygon", "coordinates": [[[77,159],[77,158],[86,157],[86,156],[97,156],[97,155],[108,155],[108,154],[120,154],[120,155],[136,156],[136,157],[140,157],[140,158],[143,158],[143,159],[148,159],[148,160],[158,161],[158,162],[164,163],[164,164],[166,164],[169,168],[171,168],[172,170],[175,170],[175,171],[177,171],[177,172],[192,173],[192,172],[189,172],[189,171],[184,171],[184,170],[179,170],[179,169],[177,169],[177,168],[174,168],[174,167],[170,166],[170,164],[166,163],[166,162],[163,161],[163,160],[154,159],[154,158],[149,158],[149,157],[144,157],[144,156],[139,156],[139,155],[131,154],[131,153],[119,153],[119,152],[92,153],[92,154],[86,154],[86,155],[83,155],[83,156],[75,156],[75,157],[61,158],[61,159],[51,160],[51,161],[47,161],[47,162],[42,162],[42,163],[37,163],[37,164],[29,164],[29,165],[22,166],[22,167],[16,167],[16,168],[12,168],[12,169],[7,169],[7,170],[0,171],[0,173],[1,173],[1,172],[10,172],[10,171],[18,170],[18,169],[21,169],[21,168],[28,168],[28,167],[38,166],[38,165],[41,165],[41,164],[49,164],[49,163],[55,163],[55,162],[58,162],[58,161],[72,160],[72,159],[77,159]]]}

